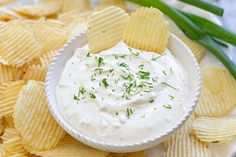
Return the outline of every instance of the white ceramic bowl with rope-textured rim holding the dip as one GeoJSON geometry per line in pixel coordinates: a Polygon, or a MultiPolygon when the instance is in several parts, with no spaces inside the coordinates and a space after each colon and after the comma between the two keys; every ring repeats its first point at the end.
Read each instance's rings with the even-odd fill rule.
{"type": "Polygon", "coordinates": [[[75,49],[78,47],[82,47],[87,43],[86,35],[81,35],[67,43],[65,47],[55,56],[52,64],[50,65],[49,71],[47,73],[46,78],[46,95],[49,102],[49,109],[53,114],[55,120],[59,123],[59,125],[65,129],[71,136],[78,139],[79,141],[87,144],[91,147],[101,149],[108,152],[134,152],[141,151],[144,149],[151,148],[162,141],[164,141],[167,137],[172,135],[178,128],[180,128],[185,121],[191,116],[192,112],[197,105],[200,90],[201,90],[201,78],[200,78],[200,70],[199,66],[194,58],[191,50],[176,36],[171,35],[168,43],[168,48],[172,51],[172,53],[178,58],[178,60],[183,64],[186,71],[189,74],[189,79],[191,83],[191,94],[190,99],[191,103],[186,104],[187,112],[179,117],[178,123],[173,125],[172,128],[169,128],[164,134],[158,135],[155,138],[149,140],[143,140],[139,143],[130,143],[130,144],[111,144],[103,141],[97,141],[88,137],[79,131],[75,130],[69,123],[64,119],[61,114],[59,107],[57,106],[56,100],[56,87],[59,82],[60,75],[62,70],[66,64],[66,62],[72,57],[75,52],[75,49]]]}

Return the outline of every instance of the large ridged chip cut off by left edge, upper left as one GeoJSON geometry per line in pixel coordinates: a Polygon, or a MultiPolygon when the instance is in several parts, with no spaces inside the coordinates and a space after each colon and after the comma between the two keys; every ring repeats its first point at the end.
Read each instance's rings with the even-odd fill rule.
{"type": "Polygon", "coordinates": [[[9,24],[0,35],[0,58],[8,65],[21,67],[41,53],[40,43],[32,32],[9,24]]]}

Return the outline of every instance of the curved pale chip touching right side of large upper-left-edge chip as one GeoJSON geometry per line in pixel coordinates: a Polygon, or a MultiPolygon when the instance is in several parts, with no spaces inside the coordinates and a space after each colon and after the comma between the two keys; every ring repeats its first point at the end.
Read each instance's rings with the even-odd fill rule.
{"type": "Polygon", "coordinates": [[[61,48],[67,41],[67,32],[48,26],[44,20],[37,21],[33,31],[44,53],[61,48]]]}

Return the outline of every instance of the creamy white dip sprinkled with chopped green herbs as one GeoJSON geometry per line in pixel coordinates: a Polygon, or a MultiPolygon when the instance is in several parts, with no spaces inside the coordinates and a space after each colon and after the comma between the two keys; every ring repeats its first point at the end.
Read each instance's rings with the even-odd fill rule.
{"type": "Polygon", "coordinates": [[[159,55],[120,42],[99,54],[77,49],[61,75],[57,103],[84,135],[126,144],[173,127],[186,111],[190,88],[168,49],[159,55]]]}

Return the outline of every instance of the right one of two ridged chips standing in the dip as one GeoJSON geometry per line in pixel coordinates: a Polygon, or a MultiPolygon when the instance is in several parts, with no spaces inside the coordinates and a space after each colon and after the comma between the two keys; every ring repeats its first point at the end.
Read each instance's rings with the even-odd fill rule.
{"type": "Polygon", "coordinates": [[[155,8],[133,12],[124,32],[125,42],[136,49],[162,54],[170,36],[169,24],[155,8]]]}

